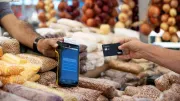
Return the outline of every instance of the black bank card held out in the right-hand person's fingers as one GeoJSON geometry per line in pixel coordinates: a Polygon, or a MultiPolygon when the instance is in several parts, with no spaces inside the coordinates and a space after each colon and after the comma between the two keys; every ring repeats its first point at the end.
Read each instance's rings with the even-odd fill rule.
{"type": "Polygon", "coordinates": [[[120,43],[102,45],[104,56],[123,55],[123,51],[118,49],[120,45],[120,43]]]}

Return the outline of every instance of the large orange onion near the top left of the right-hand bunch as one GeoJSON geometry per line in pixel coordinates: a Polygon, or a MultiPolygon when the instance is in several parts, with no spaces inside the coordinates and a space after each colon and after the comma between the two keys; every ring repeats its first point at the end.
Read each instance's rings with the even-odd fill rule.
{"type": "Polygon", "coordinates": [[[150,6],[148,10],[149,17],[159,17],[160,9],[157,6],[150,6]]]}

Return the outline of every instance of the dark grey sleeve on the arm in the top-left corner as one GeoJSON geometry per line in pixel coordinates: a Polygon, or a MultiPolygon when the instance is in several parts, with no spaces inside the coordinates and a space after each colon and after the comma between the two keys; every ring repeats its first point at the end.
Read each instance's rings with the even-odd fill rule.
{"type": "Polygon", "coordinates": [[[13,13],[11,10],[11,6],[9,3],[1,2],[0,3],[0,19],[2,19],[5,15],[13,13]]]}

